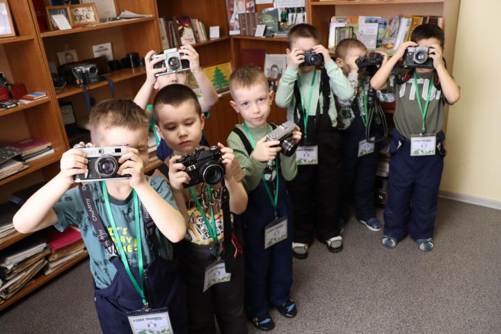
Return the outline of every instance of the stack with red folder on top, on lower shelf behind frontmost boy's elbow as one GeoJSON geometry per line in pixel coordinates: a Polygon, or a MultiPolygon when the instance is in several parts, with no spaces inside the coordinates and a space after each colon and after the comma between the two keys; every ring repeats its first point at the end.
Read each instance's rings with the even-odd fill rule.
{"type": "Polygon", "coordinates": [[[44,232],[50,246],[48,262],[44,267],[45,275],[49,275],[75,257],[87,252],[80,230],[75,226],[70,226],[64,232],[59,232],[54,227],[47,228],[44,232]]]}

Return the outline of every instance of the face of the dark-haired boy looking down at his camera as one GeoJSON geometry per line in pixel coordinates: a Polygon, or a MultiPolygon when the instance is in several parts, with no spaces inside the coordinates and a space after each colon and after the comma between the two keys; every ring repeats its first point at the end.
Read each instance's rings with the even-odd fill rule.
{"type": "Polygon", "coordinates": [[[193,152],[200,146],[205,116],[198,115],[192,101],[176,107],[164,104],[158,111],[158,117],[159,123],[155,127],[176,154],[193,152]]]}

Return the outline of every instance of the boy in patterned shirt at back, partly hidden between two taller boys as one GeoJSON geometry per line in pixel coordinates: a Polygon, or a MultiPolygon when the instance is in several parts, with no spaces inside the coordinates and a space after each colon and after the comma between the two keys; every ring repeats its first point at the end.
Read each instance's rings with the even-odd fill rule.
{"type": "MultiPolygon", "coordinates": [[[[342,130],[343,161],[343,196],[340,205],[342,224],[349,221],[349,205],[353,198],[356,218],[372,231],[381,230],[381,222],[376,218],[374,206],[376,167],[378,163],[377,144],[367,143],[367,91],[370,77],[366,69],[358,69],[356,60],[367,55],[367,47],[354,38],[339,42],[335,49],[336,64],[342,68],[344,75],[356,89],[357,94],[351,100],[337,99],[342,122],[338,125],[342,130]],[[360,78],[360,81],[359,81],[360,78]]],[[[388,61],[386,54],[383,63],[388,61]]]]}

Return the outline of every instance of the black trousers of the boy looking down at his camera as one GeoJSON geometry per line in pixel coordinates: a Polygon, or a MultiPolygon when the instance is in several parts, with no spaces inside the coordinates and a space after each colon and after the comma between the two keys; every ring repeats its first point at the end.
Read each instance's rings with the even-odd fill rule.
{"type": "Polygon", "coordinates": [[[204,246],[182,241],[179,247],[180,269],[188,289],[189,333],[215,334],[214,315],[222,334],[247,333],[244,262],[236,263],[230,282],[212,285],[203,292],[205,269],[215,260],[214,245],[204,246]]]}

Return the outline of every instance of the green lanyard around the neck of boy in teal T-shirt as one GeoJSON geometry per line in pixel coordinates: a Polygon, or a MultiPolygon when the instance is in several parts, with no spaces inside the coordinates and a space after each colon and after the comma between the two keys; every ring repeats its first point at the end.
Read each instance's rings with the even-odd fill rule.
{"type": "Polygon", "coordinates": [[[143,305],[145,309],[148,309],[148,302],[146,301],[146,297],[143,289],[143,249],[141,248],[141,224],[139,219],[139,200],[136,191],[132,190],[134,196],[134,220],[136,221],[136,234],[137,234],[137,244],[138,244],[138,265],[139,265],[139,283],[137,283],[136,278],[132,275],[132,272],[129,267],[129,262],[127,261],[127,257],[125,256],[125,252],[123,250],[122,241],[120,241],[120,235],[118,234],[118,230],[116,228],[115,219],[113,218],[113,213],[111,212],[111,206],[109,204],[109,196],[108,189],[106,188],[106,182],[102,182],[102,191],[104,196],[104,205],[106,206],[106,213],[108,214],[108,218],[111,224],[111,228],[113,228],[113,234],[115,234],[115,243],[118,248],[118,253],[120,253],[120,259],[124,264],[125,271],[127,271],[127,275],[132,282],[132,285],[136,288],[136,291],[141,296],[143,300],[143,305]]]}

